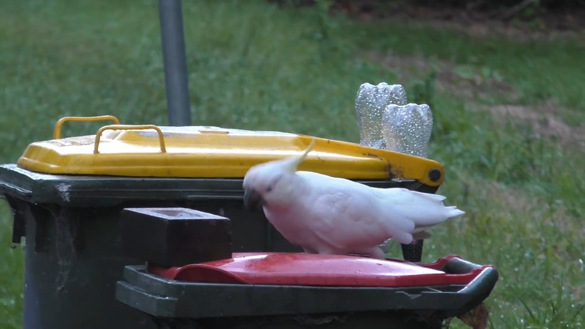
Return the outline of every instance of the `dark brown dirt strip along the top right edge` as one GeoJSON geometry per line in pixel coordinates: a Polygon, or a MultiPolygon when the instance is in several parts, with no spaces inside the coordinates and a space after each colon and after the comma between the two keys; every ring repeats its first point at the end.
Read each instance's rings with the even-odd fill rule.
{"type": "MultiPolygon", "coordinates": [[[[285,0],[269,0],[284,5],[285,0]]],[[[297,6],[315,5],[315,0],[295,0],[297,6]]],[[[585,9],[544,10],[537,1],[490,10],[487,1],[469,1],[463,6],[441,1],[333,0],[330,12],[365,22],[392,20],[395,23],[425,23],[439,29],[462,32],[471,37],[498,35],[516,42],[573,38],[585,44],[585,9]]]]}

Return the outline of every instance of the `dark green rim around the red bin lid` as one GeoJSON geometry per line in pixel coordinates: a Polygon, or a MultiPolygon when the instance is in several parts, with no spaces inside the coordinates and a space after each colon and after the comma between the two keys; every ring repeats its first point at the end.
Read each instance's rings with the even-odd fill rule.
{"type": "Polygon", "coordinates": [[[491,265],[447,256],[447,275],[476,271],[466,285],[420,287],[333,287],[197,283],[150,273],[130,265],[116,284],[116,299],[155,317],[210,318],[360,311],[431,311],[442,318],[461,316],[490,296],[498,281],[491,265]],[[266,303],[270,300],[270,303],[266,303]]]}

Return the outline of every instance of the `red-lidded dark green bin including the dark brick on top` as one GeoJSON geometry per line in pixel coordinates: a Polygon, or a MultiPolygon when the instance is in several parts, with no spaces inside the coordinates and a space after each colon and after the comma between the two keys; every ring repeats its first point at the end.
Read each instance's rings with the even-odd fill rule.
{"type": "Polygon", "coordinates": [[[229,224],[188,208],[123,210],[123,252],[147,264],[126,266],[116,298],[161,329],[439,329],[480,306],[498,280],[493,266],[455,255],[414,264],[231,253],[229,224]]]}

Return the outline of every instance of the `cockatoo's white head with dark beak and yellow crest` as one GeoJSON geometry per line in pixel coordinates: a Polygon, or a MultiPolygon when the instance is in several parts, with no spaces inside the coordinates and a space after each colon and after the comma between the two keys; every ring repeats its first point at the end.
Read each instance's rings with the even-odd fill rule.
{"type": "Polygon", "coordinates": [[[264,162],[250,168],[243,181],[244,205],[250,210],[264,205],[285,203],[294,187],[291,180],[295,177],[297,166],[311,151],[315,139],[300,156],[264,162]]]}

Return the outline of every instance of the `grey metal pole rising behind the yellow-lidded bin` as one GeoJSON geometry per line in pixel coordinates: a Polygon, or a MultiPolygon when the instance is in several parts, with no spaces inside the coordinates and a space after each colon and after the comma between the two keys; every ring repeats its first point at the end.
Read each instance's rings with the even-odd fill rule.
{"type": "Polygon", "coordinates": [[[159,0],[168,124],[191,125],[181,0],[159,0]]]}

